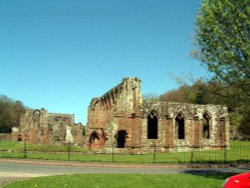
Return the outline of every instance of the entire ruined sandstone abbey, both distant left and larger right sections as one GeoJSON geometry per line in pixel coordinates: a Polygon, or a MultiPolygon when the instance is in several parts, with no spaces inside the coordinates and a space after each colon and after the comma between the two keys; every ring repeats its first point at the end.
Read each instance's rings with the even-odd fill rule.
{"type": "Polygon", "coordinates": [[[85,146],[104,153],[222,149],[229,146],[228,110],[221,105],[197,105],[144,100],[141,80],[124,78],[93,98],[88,108],[86,136],[73,114],[27,109],[12,140],[85,146]]]}

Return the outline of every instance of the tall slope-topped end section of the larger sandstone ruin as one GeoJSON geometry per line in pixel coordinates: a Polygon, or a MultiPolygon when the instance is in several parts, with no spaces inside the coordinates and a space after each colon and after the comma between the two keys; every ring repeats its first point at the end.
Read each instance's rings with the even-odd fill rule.
{"type": "Polygon", "coordinates": [[[121,142],[119,139],[125,139],[129,147],[133,147],[134,142],[140,143],[140,135],[136,135],[140,129],[138,117],[143,102],[140,84],[138,78],[124,78],[102,97],[92,99],[88,108],[88,147],[111,147],[118,144],[117,140],[121,142]],[[126,132],[122,133],[125,136],[121,131],[126,132]]]}

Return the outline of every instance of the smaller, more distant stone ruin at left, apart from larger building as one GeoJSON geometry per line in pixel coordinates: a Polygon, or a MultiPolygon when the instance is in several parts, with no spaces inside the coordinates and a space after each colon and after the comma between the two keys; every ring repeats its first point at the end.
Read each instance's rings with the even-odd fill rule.
{"type": "Polygon", "coordinates": [[[37,144],[83,145],[83,126],[74,123],[73,114],[48,113],[45,109],[26,109],[20,126],[12,129],[12,140],[37,144]]]}

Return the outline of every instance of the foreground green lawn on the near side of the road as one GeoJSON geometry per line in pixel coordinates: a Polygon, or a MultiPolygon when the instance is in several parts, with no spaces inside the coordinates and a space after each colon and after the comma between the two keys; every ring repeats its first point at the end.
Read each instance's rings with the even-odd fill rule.
{"type": "Polygon", "coordinates": [[[229,175],[207,174],[77,174],[65,176],[39,177],[15,182],[4,188],[217,188],[221,187],[229,175]]]}

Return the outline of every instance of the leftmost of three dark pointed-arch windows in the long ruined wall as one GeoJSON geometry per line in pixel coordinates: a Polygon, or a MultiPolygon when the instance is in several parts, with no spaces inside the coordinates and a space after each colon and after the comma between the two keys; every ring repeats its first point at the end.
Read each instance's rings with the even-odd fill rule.
{"type": "Polygon", "coordinates": [[[148,139],[158,138],[158,117],[155,111],[148,115],[148,139]]]}

